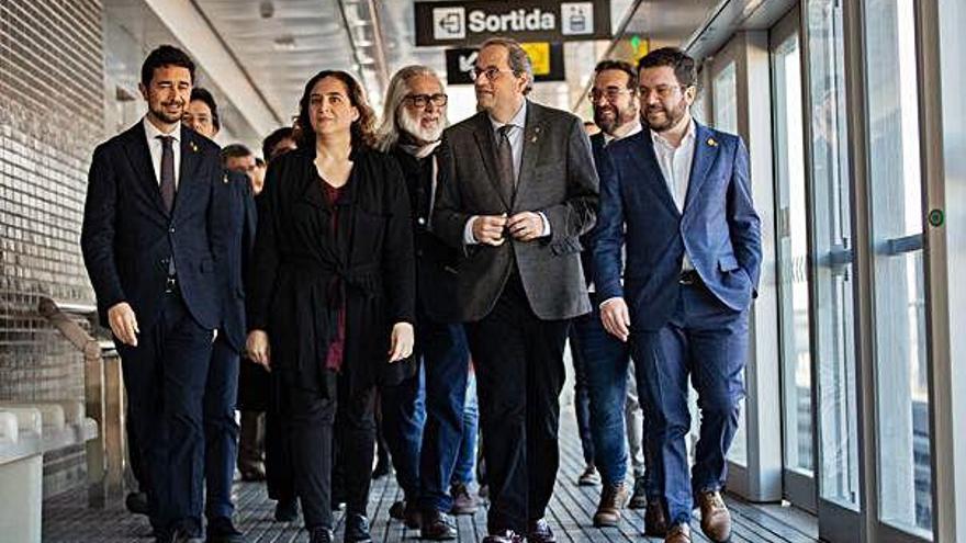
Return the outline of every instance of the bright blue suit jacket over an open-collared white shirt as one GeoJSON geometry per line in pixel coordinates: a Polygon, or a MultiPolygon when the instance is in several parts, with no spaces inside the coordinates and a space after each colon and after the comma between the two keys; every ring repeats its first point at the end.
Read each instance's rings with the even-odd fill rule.
{"type": "Polygon", "coordinates": [[[685,252],[724,306],[749,307],[762,261],[759,216],[741,138],[695,122],[695,155],[684,211],[658,165],[651,133],[611,143],[599,166],[600,224],[595,239],[600,299],[624,296],[633,327],[656,330],[671,318],[685,252]],[[620,249],[627,268],[620,284],[620,249]]]}

